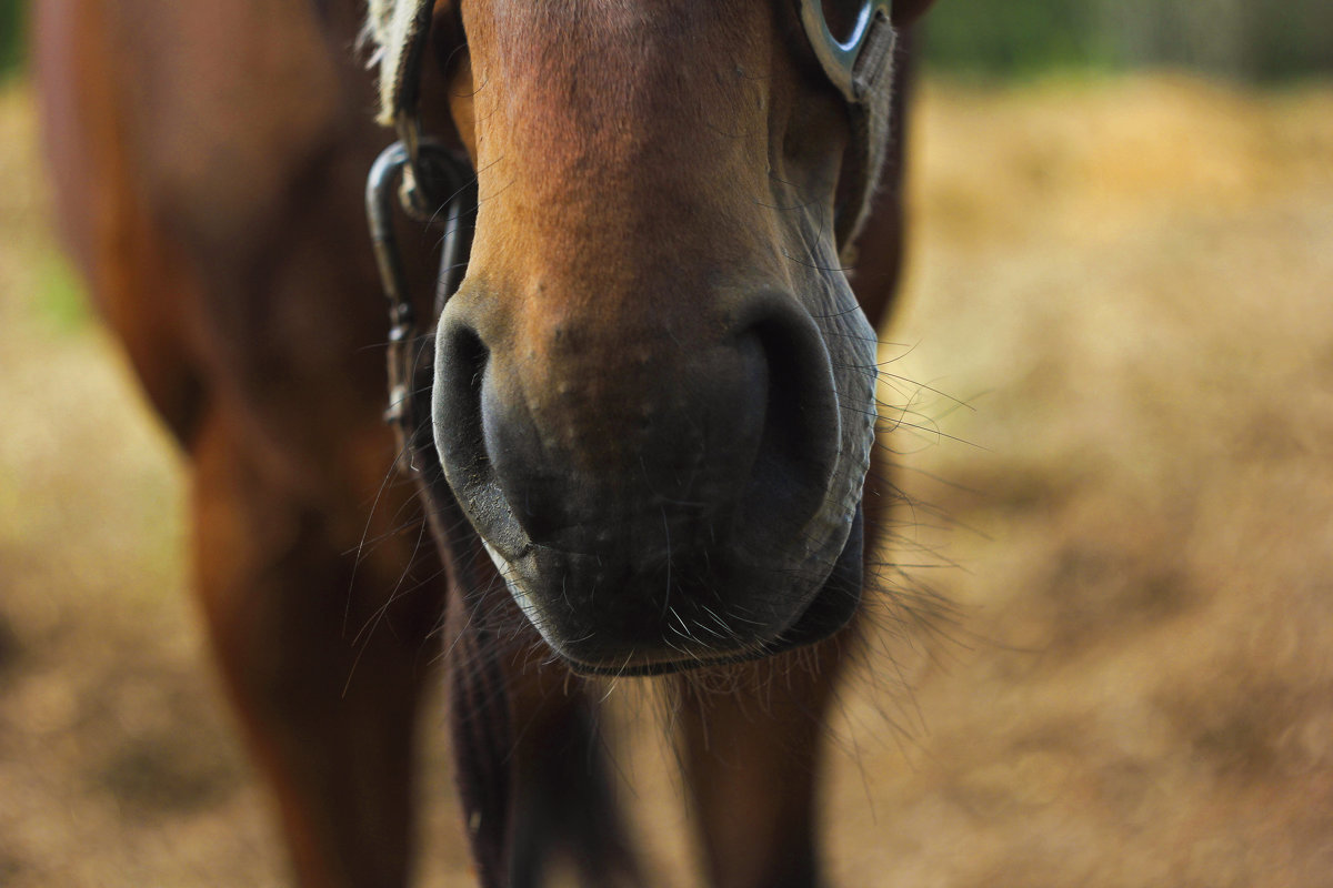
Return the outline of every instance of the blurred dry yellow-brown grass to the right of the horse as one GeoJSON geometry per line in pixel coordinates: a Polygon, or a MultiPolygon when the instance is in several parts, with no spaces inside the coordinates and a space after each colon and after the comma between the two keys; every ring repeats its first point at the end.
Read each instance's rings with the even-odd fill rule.
{"type": "Polygon", "coordinates": [[[1328,884],[1333,93],[936,87],[913,156],[893,369],[972,446],[906,478],[978,533],[844,884],[1328,884]]]}

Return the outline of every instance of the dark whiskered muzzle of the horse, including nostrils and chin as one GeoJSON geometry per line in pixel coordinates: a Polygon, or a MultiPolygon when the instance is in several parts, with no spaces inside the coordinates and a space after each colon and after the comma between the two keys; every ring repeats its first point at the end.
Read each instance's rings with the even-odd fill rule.
{"type": "Polygon", "coordinates": [[[581,671],[762,656],[857,603],[858,510],[829,527],[844,413],[818,326],[780,292],[701,302],[710,317],[677,329],[567,316],[544,347],[485,289],[441,318],[445,474],[524,614],[581,671]]]}

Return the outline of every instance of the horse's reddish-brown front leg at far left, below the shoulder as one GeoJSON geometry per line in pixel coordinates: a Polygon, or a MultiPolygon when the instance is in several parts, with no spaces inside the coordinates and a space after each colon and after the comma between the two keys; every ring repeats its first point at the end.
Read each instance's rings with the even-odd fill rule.
{"type": "Polygon", "coordinates": [[[353,579],[344,553],[360,531],[335,530],[348,511],[275,486],[216,411],[192,455],[197,587],[253,758],[276,791],[297,883],[403,885],[413,723],[440,584],[393,600],[411,562],[395,546],[353,579]]]}

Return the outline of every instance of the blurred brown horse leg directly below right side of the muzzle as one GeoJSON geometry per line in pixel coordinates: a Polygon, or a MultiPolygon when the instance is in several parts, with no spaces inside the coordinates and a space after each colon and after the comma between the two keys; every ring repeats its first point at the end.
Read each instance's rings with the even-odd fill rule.
{"type": "Polygon", "coordinates": [[[685,776],[714,888],[820,884],[814,803],[837,642],[741,667],[721,694],[681,682],[685,776]]]}

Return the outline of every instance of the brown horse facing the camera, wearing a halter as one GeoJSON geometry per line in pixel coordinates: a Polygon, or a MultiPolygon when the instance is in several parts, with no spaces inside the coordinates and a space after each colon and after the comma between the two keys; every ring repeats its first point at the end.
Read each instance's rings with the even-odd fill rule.
{"type": "Polygon", "coordinates": [[[820,883],[822,714],[885,483],[894,37],[928,5],[36,5],[57,217],[187,455],[195,587],[297,884],[405,884],[436,656],[483,884],[559,855],[641,884],[599,675],[677,690],[710,884],[820,883]],[[381,122],[461,260],[393,220],[377,265],[381,122]],[[432,189],[431,152],[471,181],[432,189]],[[385,284],[433,321],[396,339],[397,397],[431,394],[397,443],[385,284]]]}

